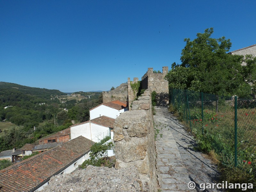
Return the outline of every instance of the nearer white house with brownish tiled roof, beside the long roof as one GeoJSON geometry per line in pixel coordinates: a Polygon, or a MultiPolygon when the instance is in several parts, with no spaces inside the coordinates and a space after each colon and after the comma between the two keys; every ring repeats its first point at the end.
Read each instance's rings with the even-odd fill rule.
{"type": "Polygon", "coordinates": [[[98,142],[110,134],[111,139],[113,139],[114,122],[114,118],[100,116],[90,121],[74,124],[70,126],[71,140],[82,135],[87,139],[98,142]]]}

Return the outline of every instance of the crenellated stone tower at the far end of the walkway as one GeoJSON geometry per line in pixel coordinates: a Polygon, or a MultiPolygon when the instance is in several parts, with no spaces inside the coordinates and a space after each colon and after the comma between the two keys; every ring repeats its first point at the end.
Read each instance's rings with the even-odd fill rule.
{"type": "Polygon", "coordinates": [[[142,89],[156,91],[156,105],[165,106],[169,104],[169,85],[164,79],[168,73],[168,67],[163,67],[162,73],[154,73],[153,68],[148,68],[147,73],[141,77],[142,89]]]}

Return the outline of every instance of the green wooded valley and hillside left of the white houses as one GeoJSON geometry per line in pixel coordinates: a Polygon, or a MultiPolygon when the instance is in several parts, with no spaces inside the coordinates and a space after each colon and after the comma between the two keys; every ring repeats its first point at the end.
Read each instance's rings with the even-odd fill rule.
{"type": "Polygon", "coordinates": [[[89,120],[89,110],[102,103],[102,94],[95,94],[91,99],[63,99],[67,93],[59,90],[0,82],[0,120],[15,124],[0,133],[0,151],[35,143],[68,128],[71,120],[76,123],[89,120]]]}

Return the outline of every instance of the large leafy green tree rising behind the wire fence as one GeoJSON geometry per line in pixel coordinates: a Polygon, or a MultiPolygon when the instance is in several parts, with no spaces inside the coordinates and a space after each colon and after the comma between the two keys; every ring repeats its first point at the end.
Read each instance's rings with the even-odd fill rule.
{"type": "Polygon", "coordinates": [[[181,64],[172,64],[166,75],[170,88],[189,89],[216,95],[245,96],[251,86],[244,81],[243,56],[227,54],[230,39],[212,38],[213,28],[197,33],[196,39],[185,38],[181,64]]]}

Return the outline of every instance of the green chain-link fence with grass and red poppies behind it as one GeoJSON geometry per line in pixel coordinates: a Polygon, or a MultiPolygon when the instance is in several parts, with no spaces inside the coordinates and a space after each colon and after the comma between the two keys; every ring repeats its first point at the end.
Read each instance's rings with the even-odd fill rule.
{"type": "Polygon", "coordinates": [[[214,150],[224,166],[256,175],[255,100],[172,89],[170,101],[200,150],[214,150]]]}

